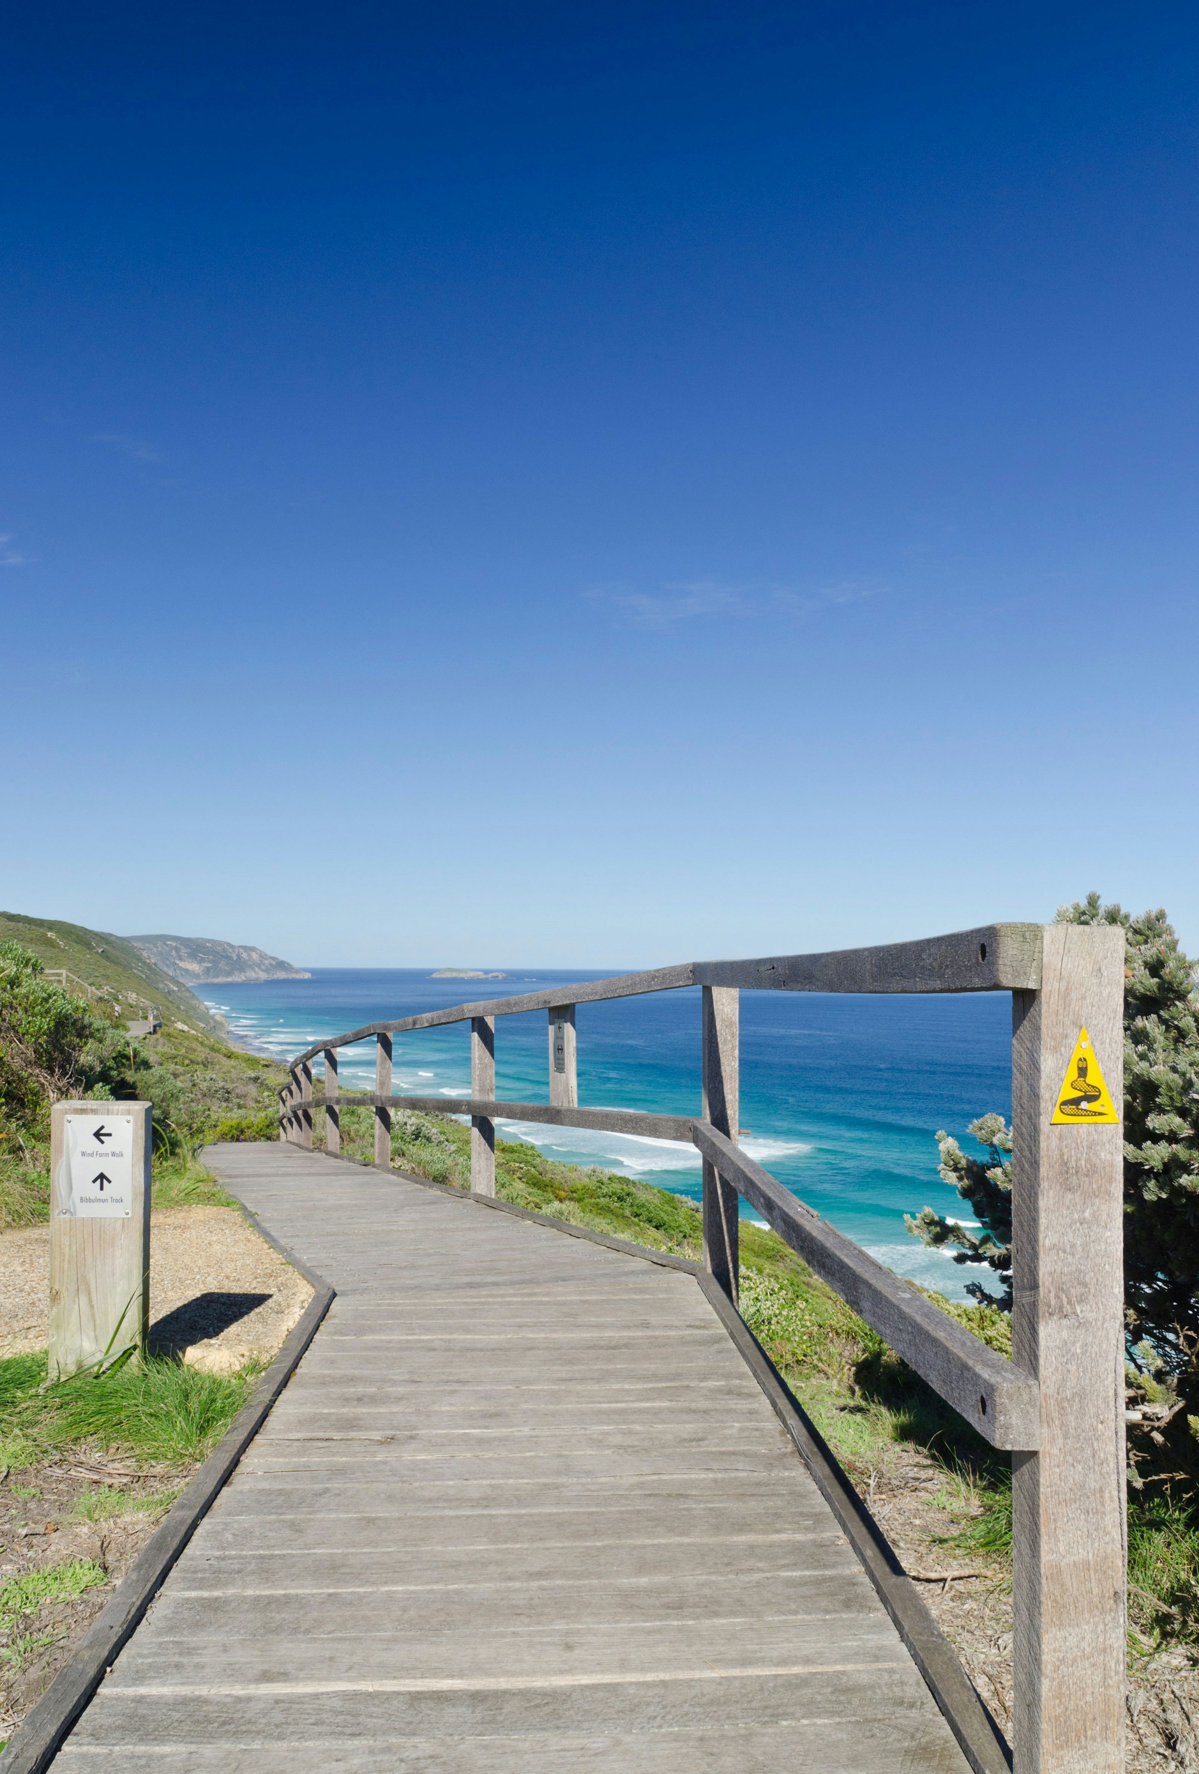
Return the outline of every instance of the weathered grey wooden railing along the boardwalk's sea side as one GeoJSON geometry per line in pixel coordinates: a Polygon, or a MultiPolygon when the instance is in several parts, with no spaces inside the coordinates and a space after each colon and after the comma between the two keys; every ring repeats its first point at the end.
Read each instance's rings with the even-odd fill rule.
{"type": "Polygon", "coordinates": [[[341,1150],[341,1109],[374,1111],[374,1162],[390,1166],[392,1109],[470,1116],[470,1187],[495,1194],[495,1123],[647,1134],[702,1155],[704,1263],[738,1297],[738,1196],[887,1339],[993,1448],[1013,1458],[1013,1664],[1016,1774],[1116,1774],[1125,1767],[1125,1338],[1123,1134],[1054,1125],[1085,1029],[1123,1100],[1125,937],[1116,926],[988,924],[981,930],[750,962],[690,962],[615,979],[369,1024],[291,1063],[280,1137],[341,1150]],[[699,1116],[580,1109],[575,1006],[702,986],[699,1116]],[[883,1268],[738,1148],[741,990],[1011,992],[1013,1361],[883,1268]],[[548,1013],[550,1102],[495,1096],[495,1020],[548,1013]],[[470,1096],[392,1095],[392,1038],[470,1022],[470,1096]],[[339,1048],[374,1038],[372,1095],[337,1089],[339,1048]],[[325,1056],[325,1091],[312,1061],[325,1056]]]}

